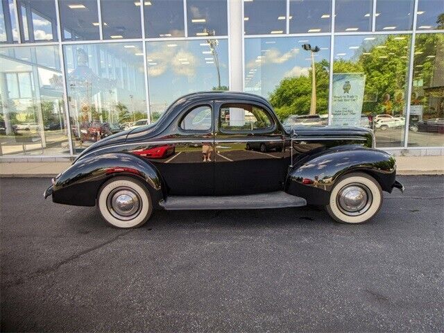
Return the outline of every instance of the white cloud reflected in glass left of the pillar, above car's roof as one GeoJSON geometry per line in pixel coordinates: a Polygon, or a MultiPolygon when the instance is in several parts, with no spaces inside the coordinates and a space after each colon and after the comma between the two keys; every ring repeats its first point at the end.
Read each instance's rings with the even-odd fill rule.
{"type": "Polygon", "coordinates": [[[160,76],[171,68],[175,74],[182,76],[194,76],[196,74],[196,66],[198,60],[193,53],[180,49],[176,49],[167,45],[162,46],[160,51],[154,51],[147,54],[148,60],[148,75],[160,76]]]}

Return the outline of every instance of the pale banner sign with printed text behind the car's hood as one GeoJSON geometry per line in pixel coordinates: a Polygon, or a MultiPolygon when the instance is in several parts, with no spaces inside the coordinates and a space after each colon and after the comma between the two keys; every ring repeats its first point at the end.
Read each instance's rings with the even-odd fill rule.
{"type": "Polygon", "coordinates": [[[359,126],[364,101],[364,73],[333,74],[332,126],[359,126]]]}

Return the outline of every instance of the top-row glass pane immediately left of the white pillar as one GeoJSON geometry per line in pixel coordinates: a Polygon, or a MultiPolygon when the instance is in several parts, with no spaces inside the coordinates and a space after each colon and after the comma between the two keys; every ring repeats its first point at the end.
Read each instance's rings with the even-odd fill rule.
{"type": "Polygon", "coordinates": [[[227,0],[187,0],[188,36],[228,35],[227,0]]]}

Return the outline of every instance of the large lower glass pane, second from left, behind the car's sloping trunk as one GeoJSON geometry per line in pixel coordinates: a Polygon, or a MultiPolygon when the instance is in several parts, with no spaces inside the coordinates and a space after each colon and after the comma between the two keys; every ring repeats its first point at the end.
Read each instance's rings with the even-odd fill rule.
{"type": "Polygon", "coordinates": [[[75,153],[147,119],[142,42],[63,46],[75,153]]]}

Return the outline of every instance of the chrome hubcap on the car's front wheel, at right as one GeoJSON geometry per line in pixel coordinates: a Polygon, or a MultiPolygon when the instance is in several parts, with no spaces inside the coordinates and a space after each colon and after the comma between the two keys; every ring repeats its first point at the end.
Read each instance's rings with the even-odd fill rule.
{"type": "Polygon", "coordinates": [[[373,201],[370,189],[365,185],[350,184],[339,191],[337,202],[339,209],[347,215],[364,214],[373,201]]]}

